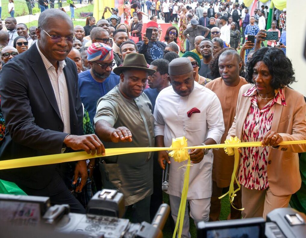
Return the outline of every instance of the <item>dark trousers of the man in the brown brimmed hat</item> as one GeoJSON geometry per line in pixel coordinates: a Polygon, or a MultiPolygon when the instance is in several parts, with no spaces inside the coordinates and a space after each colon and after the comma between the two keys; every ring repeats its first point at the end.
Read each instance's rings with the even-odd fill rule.
{"type": "MultiPolygon", "coordinates": [[[[148,222],[150,221],[150,199],[151,196],[145,197],[143,200],[134,203],[133,211],[132,211],[132,222],[133,223],[141,223],[141,222],[148,222]]],[[[128,206],[125,207],[125,211],[127,210],[128,206]]]]}

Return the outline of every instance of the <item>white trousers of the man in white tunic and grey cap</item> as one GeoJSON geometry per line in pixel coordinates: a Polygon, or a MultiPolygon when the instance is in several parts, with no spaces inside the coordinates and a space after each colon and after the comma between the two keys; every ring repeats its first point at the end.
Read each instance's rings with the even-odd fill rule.
{"type": "MultiPolygon", "coordinates": [[[[181,198],[173,195],[169,195],[171,215],[174,220],[174,224],[177,221],[177,213],[180,207],[181,198]]],[[[192,199],[187,200],[185,217],[183,222],[182,238],[191,238],[189,233],[189,216],[188,216],[188,203],[190,207],[190,217],[196,222],[209,220],[209,208],[210,208],[210,197],[203,199],[192,199]]]]}

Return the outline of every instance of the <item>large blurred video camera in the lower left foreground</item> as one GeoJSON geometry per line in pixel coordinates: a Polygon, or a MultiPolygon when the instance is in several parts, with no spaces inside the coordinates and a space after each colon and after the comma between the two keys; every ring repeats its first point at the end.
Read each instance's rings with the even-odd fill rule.
{"type": "Polygon", "coordinates": [[[48,197],[0,194],[0,237],[161,238],[169,212],[162,204],[151,224],[133,224],[122,219],[123,194],[110,189],[91,198],[86,215],[70,213],[69,205],[51,206],[48,197]]]}

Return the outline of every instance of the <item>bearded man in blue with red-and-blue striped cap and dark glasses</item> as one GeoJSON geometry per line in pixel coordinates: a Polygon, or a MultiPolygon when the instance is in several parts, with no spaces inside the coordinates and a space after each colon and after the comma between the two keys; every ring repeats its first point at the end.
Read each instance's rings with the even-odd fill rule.
{"type": "Polygon", "coordinates": [[[120,77],[112,71],[115,63],[110,46],[98,42],[91,44],[87,49],[87,60],[91,69],[79,74],[79,91],[92,122],[97,101],[118,85],[120,77]]]}

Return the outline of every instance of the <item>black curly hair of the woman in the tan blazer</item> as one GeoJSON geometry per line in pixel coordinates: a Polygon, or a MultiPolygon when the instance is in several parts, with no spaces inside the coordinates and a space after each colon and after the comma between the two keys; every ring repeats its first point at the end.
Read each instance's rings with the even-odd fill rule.
{"type": "Polygon", "coordinates": [[[263,61],[269,68],[272,75],[271,87],[273,89],[280,89],[295,81],[294,70],[292,63],[288,57],[285,56],[281,49],[274,47],[264,47],[257,50],[252,59],[247,63],[245,79],[249,83],[254,83],[253,68],[259,61],[263,61]]]}

